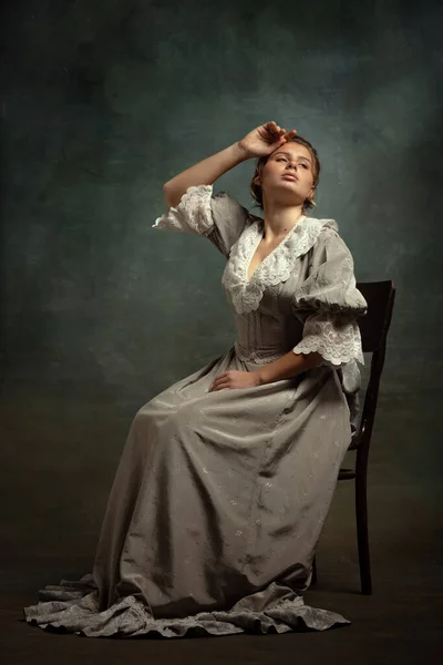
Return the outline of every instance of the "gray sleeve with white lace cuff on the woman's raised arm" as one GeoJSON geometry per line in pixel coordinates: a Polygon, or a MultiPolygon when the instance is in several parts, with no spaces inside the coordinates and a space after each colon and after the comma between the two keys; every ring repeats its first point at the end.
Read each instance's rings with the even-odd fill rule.
{"type": "Polygon", "coordinates": [[[176,207],[155,219],[153,228],[206,236],[224,256],[229,256],[249,212],[226,192],[213,194],[213,185],[192,185],[176,207]]]}

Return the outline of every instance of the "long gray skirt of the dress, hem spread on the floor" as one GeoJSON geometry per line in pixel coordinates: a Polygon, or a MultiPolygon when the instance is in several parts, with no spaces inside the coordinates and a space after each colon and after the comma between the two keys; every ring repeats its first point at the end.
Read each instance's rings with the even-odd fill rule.
{"type": "Polygon", "coordinates": [[[230,348],[136,413],[93,572],[24,608],[86,636],[323,631],[350,622],[307,606],[316,543],[351,440],[337,372],[210,391],[230,348]]]}

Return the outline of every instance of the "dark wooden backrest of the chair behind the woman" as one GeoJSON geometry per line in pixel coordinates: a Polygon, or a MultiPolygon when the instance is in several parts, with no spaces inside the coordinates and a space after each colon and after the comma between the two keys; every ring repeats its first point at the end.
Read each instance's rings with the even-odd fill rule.
{"type": "Polygon", "coordinates": [[[350,449],[358,448],[365,463],[379,397],[380,377],[387,350],[387,336],[391,325],[395,299],[393,282],[358,282],[357,288],[368,303],[368,313],[358,319],[363,352],[371,352],[371,370],[364,397],[362,416],[350,449]]]}

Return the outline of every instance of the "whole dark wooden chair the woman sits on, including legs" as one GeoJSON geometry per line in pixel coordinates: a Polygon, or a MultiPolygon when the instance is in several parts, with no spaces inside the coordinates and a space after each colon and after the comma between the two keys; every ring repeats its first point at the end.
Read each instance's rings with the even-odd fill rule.
{"type": "MultiPolygon", "coordinates": [[[[356,480],[356,518],[359,549],[361,592],[372,593],[368,536],[367,470],[369,446],[375,417],[380,377],[383,370],[387,336],[395,299],[393,282],[358,283],[358,289],[368,303],[368,313],[358,319],[363,352],[371,352],[371,369],[360,423],[348,450],[356,450],[356,469],[340,469],[338,480],[356,480]]],[[[312,584],[317,582],[316,556],[312,561],[312,584]]]]}

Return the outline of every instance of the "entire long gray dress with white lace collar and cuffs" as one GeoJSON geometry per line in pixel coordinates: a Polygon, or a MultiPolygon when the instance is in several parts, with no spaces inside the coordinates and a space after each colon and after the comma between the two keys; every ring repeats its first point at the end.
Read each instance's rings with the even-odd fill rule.
{"type": "Polygon", "coordinates": [[[352,438],[359,368],[352,256],[333,219],[303,216],[248,279],[264,223],[212,185],[193,186],[157,229],[206,236],[227,258],[236,341],[136,413],[93,572],[25,607],[29,623],[86,636],[322,631],[349,624],[307,606],[315,548],[352,438]],[[320,366],[209,391],[293,350],[320,366]]]}

